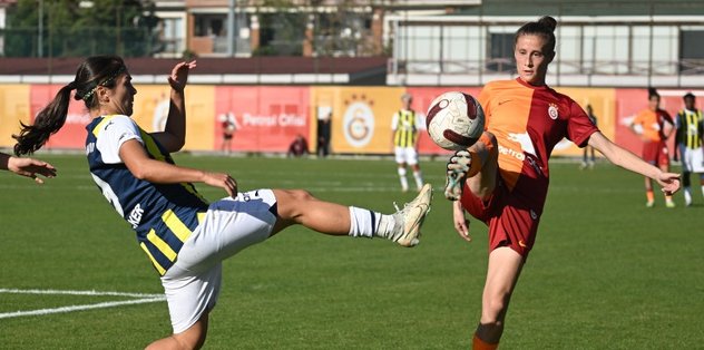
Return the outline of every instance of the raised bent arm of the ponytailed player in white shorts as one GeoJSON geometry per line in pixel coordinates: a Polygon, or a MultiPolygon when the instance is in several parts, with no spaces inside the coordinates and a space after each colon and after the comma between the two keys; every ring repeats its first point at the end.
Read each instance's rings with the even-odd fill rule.
{"type": "Polygon", "coordinates": [[[169,153],[180,150],[186,144],[186,103],[184,89],[188,81],[188,71],[193,68],[196,68],[196,61],[179,62],[172,69],[172,74],[168,77],[172,93],[166,127],[163,133],[151,134],[169,153]]]}

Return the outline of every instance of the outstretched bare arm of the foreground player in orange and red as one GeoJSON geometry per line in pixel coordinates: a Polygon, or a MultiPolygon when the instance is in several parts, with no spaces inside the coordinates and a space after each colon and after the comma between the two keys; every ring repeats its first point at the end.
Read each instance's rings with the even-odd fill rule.
{"type": "Polygon", "coordinates": [[[679,189],[679,174],[661,171],[627,149],[612,143],[600,132],[596,132],[589,136],[588,145],[604,154],[604,156],[615,165],[655,179],[667,195],[672,195],[679,189]]]}

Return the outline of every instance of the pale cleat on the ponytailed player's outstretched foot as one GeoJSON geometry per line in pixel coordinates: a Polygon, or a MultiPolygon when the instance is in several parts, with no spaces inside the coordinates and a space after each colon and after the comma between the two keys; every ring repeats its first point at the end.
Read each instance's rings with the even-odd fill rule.
{"type": "Polygon", "coordinates": [[[397,207],[393,214],[395,225],[389,240],[402,246],[415,246],[420,242],[420,227],[430,212],[430,201],[432,201],[432,186],[424,184],[413,201],[403,205],[402,210],[397,207]]]}

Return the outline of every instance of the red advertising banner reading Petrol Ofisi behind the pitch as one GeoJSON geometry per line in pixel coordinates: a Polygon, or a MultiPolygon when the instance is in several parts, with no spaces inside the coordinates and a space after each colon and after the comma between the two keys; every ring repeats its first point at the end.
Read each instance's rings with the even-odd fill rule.
{"type": "MultiPolygon", "coordinates": [[[[297,135],[312,150],[309,87],[218,86],[215,87],[213,149],[227,152],[286,152],[297,135]],[[229,145],[224,132],[234,119],[229,145]],[[229,147],[227,147],[229,146],[229,147]]],[[[313,138],[312,138],[313,136],[313,138]]]]}

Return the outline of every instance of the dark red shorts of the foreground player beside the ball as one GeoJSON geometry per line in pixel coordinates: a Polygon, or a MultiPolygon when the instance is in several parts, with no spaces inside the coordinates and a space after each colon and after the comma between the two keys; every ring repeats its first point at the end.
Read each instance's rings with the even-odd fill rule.
{"type": "Polygon", "coordinates": [[[510,193],[501,176],[488,201],[475,196],[465,185],[462,206],[476,218],[489,226],[489,252],[499,246],[509,246],[528,257],[538,233],[542,204],[529,196],[510,193]]]}

